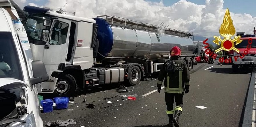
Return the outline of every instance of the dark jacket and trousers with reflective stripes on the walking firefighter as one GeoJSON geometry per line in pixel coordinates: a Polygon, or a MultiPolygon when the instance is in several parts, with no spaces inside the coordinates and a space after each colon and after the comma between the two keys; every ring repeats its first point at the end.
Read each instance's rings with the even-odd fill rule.
{"type": "Polygon", "coordinates": [[[165,70],[165,64],[163,64],[157,81],[159,87],[164,80],[166,114],[174,114],[175,110],[182,111],[184,87],[189,86],[190,81],[190,74],[186,63],[180,60],[178,56],[171,57],[171,59],[175,62],[174,74],[169,76],[165,70]],[[176,107],[173,109],[174,101],[176,107]]]}

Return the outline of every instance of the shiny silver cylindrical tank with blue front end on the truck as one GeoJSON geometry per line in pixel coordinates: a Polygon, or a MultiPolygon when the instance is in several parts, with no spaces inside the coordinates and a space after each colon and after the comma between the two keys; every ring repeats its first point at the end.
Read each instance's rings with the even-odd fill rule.
{"type": "Polygon", "coordinates": [[[194,53],[194,43],[189,37],[163,34],[159,42],[154,31],[110,25],[105,19],[99,17],[93,19],[98,25],[97,61],[123,57],[144,60],[166,59],[173,46],[181,48],[182,56],[192,56],[194,53]]]}

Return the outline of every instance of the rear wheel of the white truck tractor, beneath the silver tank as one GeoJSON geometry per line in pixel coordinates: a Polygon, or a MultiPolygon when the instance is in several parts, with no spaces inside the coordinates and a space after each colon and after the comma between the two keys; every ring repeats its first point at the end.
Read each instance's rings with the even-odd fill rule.
{"type": "Polygon", "coordinates": [[[141,79],[141,72],[138,66],[133,66],[128,70],[128,80],[129,83],[133,86],[139,84],[141,79]]]}

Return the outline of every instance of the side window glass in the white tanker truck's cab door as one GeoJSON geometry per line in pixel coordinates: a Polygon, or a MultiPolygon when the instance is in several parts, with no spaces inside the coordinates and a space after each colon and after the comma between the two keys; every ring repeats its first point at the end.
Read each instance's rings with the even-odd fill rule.
{"type": "Polygon", "coordinates": [[[66,43],[68,24],[56,20],[52,29],[49,44],[61,45],[66,43]]]}

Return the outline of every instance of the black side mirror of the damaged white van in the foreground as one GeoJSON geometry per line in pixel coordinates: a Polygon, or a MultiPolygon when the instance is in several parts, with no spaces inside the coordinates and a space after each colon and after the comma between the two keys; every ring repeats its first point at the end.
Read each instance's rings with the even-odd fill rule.
{"type": "Polygon", "coordinates": [[[31,64],[34,77],[30,79],[31,84],[38,84],[49,79],[43,61],[35,60],[31,64]]]}

